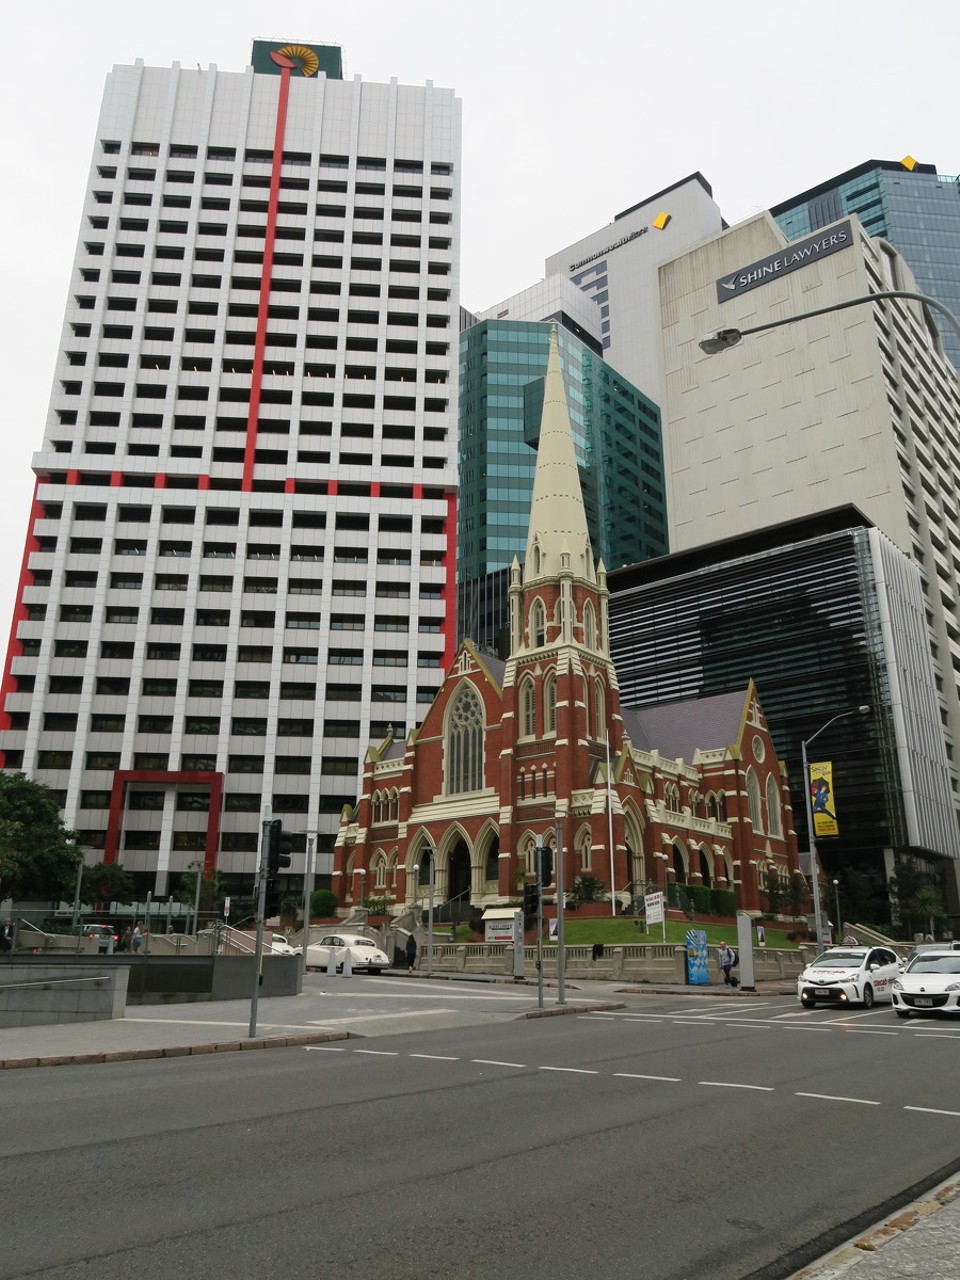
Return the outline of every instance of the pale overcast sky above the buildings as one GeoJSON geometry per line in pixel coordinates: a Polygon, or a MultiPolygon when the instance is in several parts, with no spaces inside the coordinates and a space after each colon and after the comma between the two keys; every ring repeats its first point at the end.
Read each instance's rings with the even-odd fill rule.
{"type": "Polygon", "coordinates": [[[343,49],[344,74],[463,102],[462,302],[699,169],[727,221],[868,159],[960,172],[957,0],[131,0],[19,4],[0,81],[0,636],[6,644],[104,78],[241,70],[251,40],[343,49]]]}

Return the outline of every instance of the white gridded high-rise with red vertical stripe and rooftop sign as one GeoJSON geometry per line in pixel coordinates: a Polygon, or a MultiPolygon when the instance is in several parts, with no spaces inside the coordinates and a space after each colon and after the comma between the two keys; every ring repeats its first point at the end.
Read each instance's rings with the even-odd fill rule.
{"type": "Polygon", "coordinates": [[[4,763],[142,890],[248,888],[265,804],[329,870],[453,653],[460,138],[332,46],[108,77],[4,763]]]}

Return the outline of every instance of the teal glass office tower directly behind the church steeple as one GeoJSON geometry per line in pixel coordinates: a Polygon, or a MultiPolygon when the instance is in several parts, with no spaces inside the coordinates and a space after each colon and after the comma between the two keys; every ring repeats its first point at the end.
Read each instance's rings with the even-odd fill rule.
{"type": "MultiPolygon", "coordinates": [[[[495,648],[506,571],[526,545],[549,333],[545,323],[481,320],[461,334],[460,631],[484,648],[495,648]]],[[[558,340],[594,554],[608,568],[662,556],[659,408],[589,334],[561,325],[558,340]]]]}

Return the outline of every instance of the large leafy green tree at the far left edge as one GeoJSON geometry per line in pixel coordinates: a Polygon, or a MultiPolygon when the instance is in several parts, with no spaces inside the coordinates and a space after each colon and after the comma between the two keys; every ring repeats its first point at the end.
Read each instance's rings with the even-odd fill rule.
{"type": "Polygon", "coordinates": [[[82,850],[50,787],[0,773],[0,899],[72,900],[82,850]]]}

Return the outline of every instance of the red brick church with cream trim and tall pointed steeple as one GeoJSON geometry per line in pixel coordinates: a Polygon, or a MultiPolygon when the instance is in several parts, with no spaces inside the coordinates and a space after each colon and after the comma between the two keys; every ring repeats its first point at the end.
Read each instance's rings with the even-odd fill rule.
{"type": "MultiPolygon", "coordinates": [[[[622,905],[645,886],[733,890],[760,911],[768,876],[797,869],[783,765],[756,690],[622,708],[607,575],[594,563],[556,334],[545,378],[524,566],[511,570],[509,657],[463,641],[406,742],[370,748],[344,810],[342,909],[417,899],[506,905],[538,844],[563,886],[589,872],[622,905]]],[[[549,886],[545,893],[549,893],[549,886]]]]}

